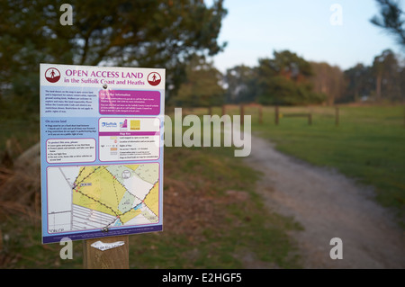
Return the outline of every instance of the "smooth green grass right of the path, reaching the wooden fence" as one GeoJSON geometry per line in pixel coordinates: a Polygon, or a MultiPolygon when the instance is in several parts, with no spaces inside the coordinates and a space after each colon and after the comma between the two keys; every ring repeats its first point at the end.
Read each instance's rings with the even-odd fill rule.
{"type": "Polygon", "coordinates": [[[245,110],[252,114],[252,130],[275,142],[278,150],[374,186],[377,202],[396,211],[405,225],[403,106],[341,106],[338,126],[334,107],[281,107],[278,125],[275,108],[264,108],[261,125],[257,107],[245,110]],[[312,112],[312,125],[307,118],[284,117],[299,112],[312,112]]]}

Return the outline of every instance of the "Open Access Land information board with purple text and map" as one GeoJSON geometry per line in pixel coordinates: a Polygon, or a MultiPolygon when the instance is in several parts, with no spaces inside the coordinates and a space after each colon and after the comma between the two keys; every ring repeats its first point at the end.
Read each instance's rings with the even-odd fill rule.
{"type": "Polygon", "coordinates": [[[165,69],[40,64],[42,242],[162,230],[165,69]]]}

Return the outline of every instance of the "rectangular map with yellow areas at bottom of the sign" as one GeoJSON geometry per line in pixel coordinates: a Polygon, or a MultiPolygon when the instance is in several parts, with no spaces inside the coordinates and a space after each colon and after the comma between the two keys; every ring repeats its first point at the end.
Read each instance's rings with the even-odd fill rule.
{"type": "Polygon", "coordinates": [[[159,220],[159,164],[53,166],[48,232],[139,226],[159,220]]]}

